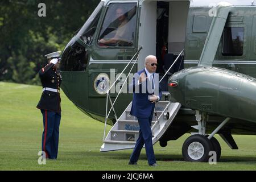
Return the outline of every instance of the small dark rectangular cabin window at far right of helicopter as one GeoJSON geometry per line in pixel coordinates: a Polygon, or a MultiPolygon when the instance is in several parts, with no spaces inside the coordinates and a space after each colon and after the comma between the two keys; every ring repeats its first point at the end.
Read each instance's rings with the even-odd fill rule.
{"type": "Polygon", "coordinates": [[[225,27],[223,32],[222,55],[243,55],[243,27],[225,27]]]}

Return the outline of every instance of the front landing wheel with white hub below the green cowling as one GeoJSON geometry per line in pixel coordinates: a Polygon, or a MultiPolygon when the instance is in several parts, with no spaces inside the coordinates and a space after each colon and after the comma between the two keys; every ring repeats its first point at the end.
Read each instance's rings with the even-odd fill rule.
{"type": "Polygon", "coordinates": [[[192,135],[188,137],[182,146],[182,155],[185,161],[208,162],[209,152],[213,150],[213,144],[204,135],[192,135]]]}

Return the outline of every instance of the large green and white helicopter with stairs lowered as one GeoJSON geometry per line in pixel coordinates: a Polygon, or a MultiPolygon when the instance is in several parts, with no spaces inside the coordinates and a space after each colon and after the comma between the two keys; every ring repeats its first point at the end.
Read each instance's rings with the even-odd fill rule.
{"type": "Polygon", "coordinates": [[[61,55],[61,89],[86,115],[113,125],[107,137],[104,130],[100,151],[133,148],[139,130],[129,114],[133,94],[122,89],[144,68],[144,58],[155,55],[163,97],[153,143],[166,147],[191,133],[184,160],[208,162],[211,151],[219,160],[215,134],[232,149],[238,149],[232,135],[256,134],[255,40],[251,0],[104,0],[61,55]],[[127,31],[117,39],[121,19],[127,31]]]}

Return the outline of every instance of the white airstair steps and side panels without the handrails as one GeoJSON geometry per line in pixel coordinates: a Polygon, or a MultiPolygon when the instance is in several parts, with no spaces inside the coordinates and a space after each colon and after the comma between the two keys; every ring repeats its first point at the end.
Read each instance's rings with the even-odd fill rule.
{"type": "MultiPolygon", "coordinates": [[[[134,148],[139,137],[139,123],[136,117],[130,115],[131,104],[123,111],[121,117],[109,131],[100,151],[115,151],[134,148]]],[[[158,142],[160,137],[171,125],[172,120],[180,109],[177,102],[159,101],[155,105],[157,117],[152,118],[152,143],[158,142]]]]}

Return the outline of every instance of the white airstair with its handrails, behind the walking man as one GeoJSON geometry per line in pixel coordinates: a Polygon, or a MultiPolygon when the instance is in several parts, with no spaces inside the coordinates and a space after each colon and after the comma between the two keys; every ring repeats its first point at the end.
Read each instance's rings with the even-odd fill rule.
{"type": "MultiPolygon", "coordinates": [[[[134,58],[138,55],[141,51],[142,47],[139,47],[138,51],[135,53],[133,58],[130,60],[130,62],[126,65],[126,67],[123,69],[122,73],[119,74],[119,77],[123,74],[125,69],[131,64],[131,62],[134,60],[134,58]]],[[[167,73],[170,71],[170,69],[174,66],[176,61],[181,56],[181,53],[184,52],[184,49],[180,52],[179,56],[177,56],[174,63],[171,65],[171,67],[168,69],[166,74],[162,77],[162,79],[159,81],[159,83],[163,80],[163,78],[167,75],[167,73]]],[[[133,66],[130,68],[130,72],[133,69],[136,61],[134,61],[133,66]]],[[[128,74],[128,75],[129,75],[128,74]]],[[[101,152],[107,152],[107,151],[115,151],[115,150],[124,150],[129,148],[134,148],[136,140],[139,137],[139,123],[137,118],[130,115],[131,110],[131,104],[132,102],[127,106],[125,111],[123,111],[121,117],[119,119],[117,118],[117,115],[115,114],[114,110],[114,104],[115,101],[117,101],[117,98],[119,94],[121,93],[121,90],[123,89],[123,85],[125,85],[126,80],[122,84],[121,89],[119,90],[119,93],[117,97],[115,98],[114,102],[112,101],[112,98],[110,97],[109,91],[112,89],[112,87],[115,85],[119,77],[114,81],[114,83],[110,86],[108,91],[106,92],[106,117],[105,117],[105,129],[104,129],[104,143],[101,146],[100,151],[101,152]],[[108,110],[108,101],[110,102],[110,105],[112,106],[110,110],[108,110]],[[106,131],[106,123],[107,119],[109,117],[110,111],[114,112],[114,117],[117,122],[115,122],[112,129],[109,131],[107,137],[105,138],[105,131],[106,131]]],[[[169,98],[170,93],[162,92],[162,97],[169,98]]],[[[170,102],[168,101],[162,101],[156,102],[155,104],[155,112],[156,115],[153,115],[152,123],[151,123],[151,131],[152,131],[152,143],[155,144],[158,142],[158,140],[162,137],[162,135],[166,132],[168,127],[171,125],[173,119],[175,118],[177,112],[180,109],[180,103],[178,102],[170,102]]]]}

